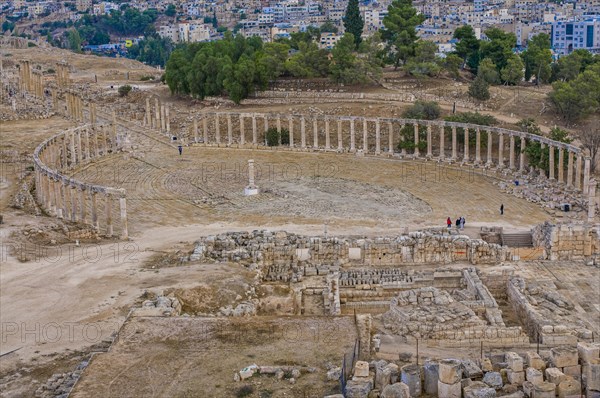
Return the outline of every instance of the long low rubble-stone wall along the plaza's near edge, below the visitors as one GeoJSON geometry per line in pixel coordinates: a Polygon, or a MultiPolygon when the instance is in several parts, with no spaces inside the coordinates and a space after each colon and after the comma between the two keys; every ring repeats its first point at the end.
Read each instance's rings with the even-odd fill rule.
{"type": "Polygon", "coordinates": [[[256,263],[270,280],[293,273],[326,273],[348,265],[497,264],[510,258],[506,247],[463,235],[412,232],[389,238],[309,237],[283,231],[231,232],[197,241],[190,260],[256,263]],[[335,269],[331,269],[334,267],[335,269]],[[319,272],[321,271],[321,272],[319,272]]]}

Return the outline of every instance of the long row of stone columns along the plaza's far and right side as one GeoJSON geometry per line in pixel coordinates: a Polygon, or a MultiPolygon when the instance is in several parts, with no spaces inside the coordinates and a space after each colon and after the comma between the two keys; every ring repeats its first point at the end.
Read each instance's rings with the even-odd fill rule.
{"type": "MultiPolygon", "coordinates": [[[[148,105],[147,105],[148,106],[148,105]]],[[[295,123],[294,121],[298,121],[297,124],[299,124],[300,126],[300,140],[299,140],[299,147],[301,149],[304,148],[320,148],[320,145],[322,145],[323,143],[319,141],[319,132],[321,130],[319,130],[319,121],[322,121],[322,123],[324,123],[324,133],[325,133],[325,142],[324,142],[324,149],[325,150],[337,150],[337,151],[343,151],[346,147],[344,146],[344,142],[343,142],[343,134],[342,134],[342,128],[343,128],[343,124],[344,123],[348,123],[349,124],[349,130],[350,130],[350,142],[349,144],[349,151],[350,152],[356,152],[358,150],[362,150],[365,153],[368,153],[369,151],[373,150],[373,148],[369,147],[369,139],[372,139],[371,137],[371,132],[373,131],[373,127],[374,127],[374,132],[375,132],[375,136],[374,138],[374,153],[376,155],[379,154],[383,154],[383,148],[382,148],[382,130],[385,131],[385,129],[387,129],[387,133],[388,133],[388,142],[387,142],[387,152],[389,155],[393,155],[394,153],[396,153],[396,148],[398,145],[397,140],[395,140],[395,136],[398,136],[398,140],[401,140],[402,137],[400,136],[399,133],[396,133],[397,131],[402,130],[404,127],[406,127],[406,123],[408,123],[408,125],[412,124],[412,128],[414,131],[414,150],[413,153],[410,154],[415,158],[419,158],[421,157],[421,153],[420,153],[420,127],[421,125],[418,122],[409,122],[407,121],[406,123],[401,122],[400,125],[400,130],[395,130],[394,129],[394,123],[392,121],[389,120],[380,120],[380,119],[367,119],[367,118],[324,118],[324,119],[315,119],[312,118],[307,120],[308,118],[305,116],[274,116],[274,115],[256,115],[256,114],[228,114],[228,113],[223,113],[223,114],[213,114],[213,115],[207,115],[205,117],[202,118],[202,142],[204,142],[205,144],[209,143],[209,135],[208,135],[208,128],[209,128],[209,122],[210,119],[213,120],[212,124],[212,128],[214,129],[214,143],[216,143],[217,145],[221,145],[221,144],[226,144],[226,145],[232,145],[234,143],[234,137],[233,137],[233,118],[237,118],[239,120],[239,144],[240,145],[245,145],[245,144],[252,144],[252,145],[262,145],[265,144],[266,142],[258,142],[258,137],[259,137],[259,132],[258,132],[258,121],[262,120],[262,127],[264,129],[264,131],[266,132],[269,129],[269,119],[275,119],[276,121],[276,128],[279,132],[281,132],[282,126],[284,126],[284,120],[287,119],[287,129],[289,131],[289,146],[290,147],[297,147],[297,143],[295,142],[295,134],[297,134],[294,131],[294,127],[295,127],[295,123]],[[251,132],[252,135],[251,137],[246,135],[246,119],[251,119],[251,132]],[[222,137],[221,134],[221,121],[222,120],[226,120],[226,128],[227,128],[227,136],[226,137],[222,137]],[[336,122],[337,124],[337,147],[334,148],[333,147],[333,140],[331,137],[331,123],[332,122],[336,122]],[[382,126],[383,124],[383,126],[382,126]],[[312,130],[312,132],[307,131],[307,130],[312,130]],[[360,132],[362,132],[362,147],[358,148],[357,146],[357,130],[360,130],[360,132]],[[312,133],[312,145],[308,144],[308,137],[307,134],[312,133]]],[[[507,131],[506,133],[504,132],[494,132],[491,129],[486,129],[485,126],[481,126],[481,127],[473,127],[473,128],[463,128],[463,127],[459,127],[459,126],[446,126],[444,124],[439,124],[439,125],[434,125],[434,124],[427,124],[426,125],[426,145],[424,145],[424,147],[426,148],[426,154],[425,157],[428,159],[437,159],[440,161],[460,161],[463,163],[473,163],[475,165],[485,165],[487,167],[497,167],[499,169],[503,169],[505,167],[508,167],[511,170],[515,170],[515,171],[519,171],[521,173],[525,173],[527,171],[527,161],[526,161],[526,153],[525,153],[525,148],[527,146],[527,138],[524,134],[515,131],[510,132],[507,131]],[[434,146],[434,140],[433,140],[433,129],[436,128],[438,129],[438,136],[439,136],[439,150],[436,154],[434,154],[433,151],[433,146],[434,146]],[[446,128],[449,128],[451,131],[451,137],[449,138],[451,141],[451,153],[449,154],[450,156],[447,156],[446,154],[446,128]],[[463,145],[464,145],[464,149],[463,149],[463,153],[462,153],[462,159],[459,158],[459,154],[458,154],[458,138],[459,138],[459,133],[458,130],[462,130],[462,132],[460,134],[463,135],[463,145]],[[475,148],[474,148],[474,153],[471,153],[471,142],[470,142],[470,138],[472,137],[471,134],[474,130],[475,133],[475,148]],[[482,131],[483,130],[483,131],[482,131]],[[487,145],[486,145],[486,153],[485,153],[485,158],[484,158],[484,154],[482,153],[482,143],[481,143],[481,139],[483,134],[485,133],[487,135],[487,145]],[[494,148],[494,137],[493,134],[497,134],[498,136],[498,140],[497,140],[497,145],[498,148],[495,149],[494,148]],[[505,159],[505,139],[507,137],[505,137],[506,135],[508,135],[508,159],[505,159]],[[519,144],[520,144],[520,148],[519,148],[519,153],[517,156],[517,141],[519,140],[519,144]],[[494,157],[494,155],[497,154],[497,158],[494,157]],[[506,161],[508,161],[508,165],[505,163],[506,161]]],[[[200,142],[200,132],[199,132],[199,126],[198,126],[198,120],[194,119],[193,121],[193,134],[194,134],[194,141],[195,142],[200,142]]],[[[266,140],[266,134],[264,135],[265,140],[266,140]]],[[[550,179],[556,179],[558,182],[560,183],[565,183],[567,186],[570,187],[575,187],[578,189],[583,189],[584,192],[587,192],[587,183],[586,178],[589,179],[589,167],[586,169],[584,168],[583,170],[583,174],[584,174],[584,184],[583,187],[581,186],[581,175],[582,175],[582,163],[586,163],[589,164],[589,159],[585,159],[583,158],[583,155],[581,152],[579,153],[574,153],[572,150],[570,150],[568,147],[566,146],[562,146],[559,143],[556,144],[551,144],[551,143],[544,143],[544,145],[548,145],[549,147],[549,151],[550,151],[550,175],[549,178],[550,179]],[[555,157],[555,151],[558,149],[558,159],[556,159],[555,157]],[[565,151],[567,151],[567,164],[565,165],[565,151]],[[576,159],[576,163],[575,163],[575,156],[577,156],[576,159]],[[567,170],[566,173],[566,178],[565,178],[565,173],[564,170],[567,170]],[[558,170],[558,175],[556,175],[555,170],[558,170]],[[585,177],[588,176],[588,177],[585,177]]],[[[403,155],[408,155],[406,153],[406,150],[402,150],[402,154],[403,155]]]]}

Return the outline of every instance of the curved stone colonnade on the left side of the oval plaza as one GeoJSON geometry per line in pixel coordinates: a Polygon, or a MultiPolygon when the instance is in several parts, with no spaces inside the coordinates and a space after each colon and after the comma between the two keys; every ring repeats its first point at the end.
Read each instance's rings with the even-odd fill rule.
{"type": "Polygon", "coordinates": [[[68,130],[42,144],[34,154],[38,202],[56,217],[92,225],[99,231],[98,198],[104,197],[105,234],[112,236],[113,202],[118,199],[121,237],[128,237],[125,190],[86,184],[62,175],[56,169],[75,167],[116,150],[114,129],[88,126],[68,130]],[[88,213],[89,209],[89,213],[88,213]]]}

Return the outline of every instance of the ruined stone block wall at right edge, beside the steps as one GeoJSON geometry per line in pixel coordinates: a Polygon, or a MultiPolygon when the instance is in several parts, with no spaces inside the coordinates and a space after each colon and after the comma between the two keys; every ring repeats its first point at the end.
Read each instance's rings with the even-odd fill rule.
{"type": "Polygon", "coordinates": [[[534,246],[547,260],[584,260],[600,256],[600,225],[545,222],[533,229],[534,246]]]}

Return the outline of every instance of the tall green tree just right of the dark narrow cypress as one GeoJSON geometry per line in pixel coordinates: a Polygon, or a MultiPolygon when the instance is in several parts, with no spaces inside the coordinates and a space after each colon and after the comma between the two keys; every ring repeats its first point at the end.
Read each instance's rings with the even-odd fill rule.
{"type": "Polygon", "coordinates": [[[414,55],[418,40],[416,27],[423,21],[425,16],[417,14],[412,0],[394,0],[388,7],[388,15],[383,18],[382,37],[396,68],[414,55]]]}

